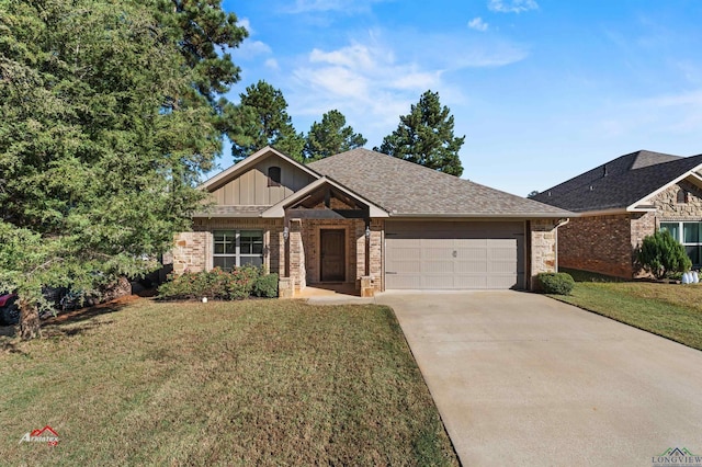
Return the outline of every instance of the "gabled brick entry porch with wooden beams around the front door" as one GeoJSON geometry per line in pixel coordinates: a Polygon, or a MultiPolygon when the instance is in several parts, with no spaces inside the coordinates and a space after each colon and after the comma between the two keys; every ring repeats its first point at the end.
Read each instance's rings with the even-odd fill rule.
{"type": "Polygon", "coordinates": [[[317,289],[373,296],[383,289],[385,212],[330,180],[321,179],[263,217],[283,217],[280,296],[317,289]]]}

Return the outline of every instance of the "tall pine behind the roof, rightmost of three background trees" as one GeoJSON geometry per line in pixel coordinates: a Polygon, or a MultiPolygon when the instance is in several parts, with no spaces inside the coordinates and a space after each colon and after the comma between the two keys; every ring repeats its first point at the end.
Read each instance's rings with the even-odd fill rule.
{"type": "Polygon", "coordinates": [[[449,107],[441,106],[438,92],[424,92],[419,103],[399,121],[397,129],[374,150],[461,176],[458,151],[465,136],[453,135],[453,115],[449,107]]]}

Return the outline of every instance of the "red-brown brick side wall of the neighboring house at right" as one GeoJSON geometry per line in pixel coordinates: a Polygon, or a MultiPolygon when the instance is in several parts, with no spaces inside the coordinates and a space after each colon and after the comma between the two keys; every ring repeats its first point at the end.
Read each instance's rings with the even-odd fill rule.
{"type": "Polygon", "coordinates": [[[573,217],[558,228],[558,266],[632,277],[631,215],[573,217]]]}

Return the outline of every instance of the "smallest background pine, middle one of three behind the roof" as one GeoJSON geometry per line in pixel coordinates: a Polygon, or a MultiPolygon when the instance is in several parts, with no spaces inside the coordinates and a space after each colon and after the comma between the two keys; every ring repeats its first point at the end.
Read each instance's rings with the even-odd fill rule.
{"type": "Polygon", "coordinates": [[[321,116],[321,123],[313,123],[305,141],[305,160],[314,161],[339,152],[360,148],[366,144],[360,133],[347,126],[347,117],[337,110],[321,116]]]}

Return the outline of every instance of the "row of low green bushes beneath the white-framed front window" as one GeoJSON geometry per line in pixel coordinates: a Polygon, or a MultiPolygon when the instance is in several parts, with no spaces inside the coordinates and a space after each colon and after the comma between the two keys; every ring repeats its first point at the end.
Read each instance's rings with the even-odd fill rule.
{"type": "Polygon", "coordinates": [[[167,299],[242,299],[252,295],[254,285],[262,277],[268,276],[262,275],[262,270],[256,266],[236,267],[230,273],[219,267],[207,272],[185,272],[180,276],[171,275],[169,282],[158,288],[158,296],[167,299]]]}

